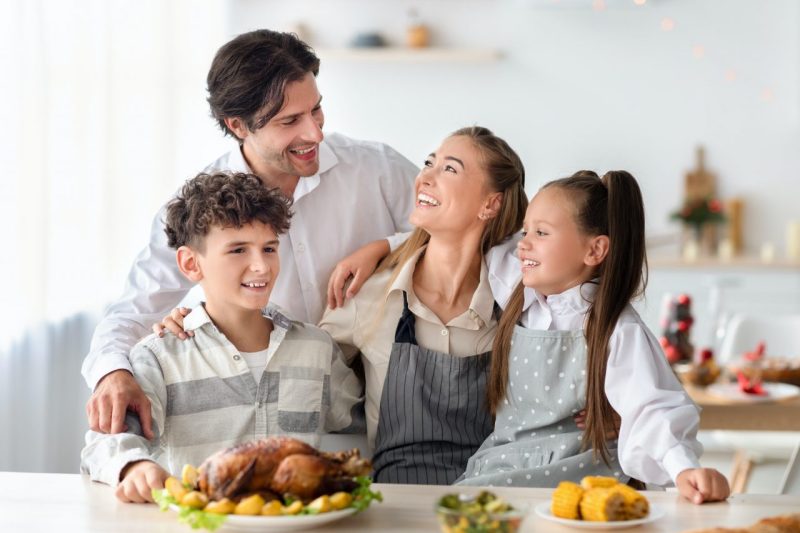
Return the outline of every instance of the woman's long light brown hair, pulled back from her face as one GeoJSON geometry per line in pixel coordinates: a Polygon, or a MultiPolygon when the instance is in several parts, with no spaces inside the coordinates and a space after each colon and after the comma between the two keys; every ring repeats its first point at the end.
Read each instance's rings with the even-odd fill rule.
{"type": "MultiPolygon", "coordinates": [[[[525,167],[508,143],[487,128],[461,128],[450,136],[458,135],[472,140],[480,153],[479,160],[489,175],[489,188],[493,192],[503,193],[497,216],[489,221],[481,236],[481,253],[485,254],[489,248],[505,241],[522,228],[525,209],[528,207],[528,198],[525,196],[525,167]]],[[[430,238],[427,231],[416,228],[403,244],[383,260],[378,271],[404,265],[430,238]]],[[[391,286],[399,273],[400,269],[396,269],[387,286],[391,286]]]]}

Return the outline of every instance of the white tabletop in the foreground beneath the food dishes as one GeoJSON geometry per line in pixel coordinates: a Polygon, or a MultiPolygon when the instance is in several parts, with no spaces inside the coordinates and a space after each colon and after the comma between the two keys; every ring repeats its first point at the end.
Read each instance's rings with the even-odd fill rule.
{"type": "MultiPolygon", "coordinates": [[[[321,531],[437,531],[433,512],[436,499],[452,487],[419,485],[374,485],[384,496],[360,515],[334,522],[321,531]]],[[[470,487],[463,492],[475,492],[470,487]]],[[[533,514],[533,507],[548,501],[549,489],[492,489],[512,503],[525,502],[531,514],[522,531],[554,532],[570,529],[533,514]]],[[[741,526],[771,515],[800,512],[800,496],[737,495],[728,502],[692,505],[673,492],[648,492],[667,516],[637,531],[679,532],[710,526],[741,526]]],[[[92,483],[78,474],[27,474],[0,472],[0,531],[8,533],[85,533],[132,531],[183,532],[192,530],[176,520],[175,513],[161,512],[155,505],[124,504],[105,485],[92,483]]]]}

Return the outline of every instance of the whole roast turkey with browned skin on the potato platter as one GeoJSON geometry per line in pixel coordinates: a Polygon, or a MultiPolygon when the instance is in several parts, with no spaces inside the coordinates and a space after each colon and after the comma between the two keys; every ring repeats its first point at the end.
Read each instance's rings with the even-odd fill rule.
{"type": "Polygon", "coordinates": [[[212,500],[245,494],[292,495],[309,501],[323,494],[349,492],[355,476],[372,465],[357,448],[321,452],[303,441],[269,437],[222,450],[198,469],[198,488],[212,500]]]}

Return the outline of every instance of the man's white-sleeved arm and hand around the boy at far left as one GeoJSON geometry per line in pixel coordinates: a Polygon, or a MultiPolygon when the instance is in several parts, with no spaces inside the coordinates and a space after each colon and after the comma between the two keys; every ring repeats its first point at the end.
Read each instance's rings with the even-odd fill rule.
{"type": "MultiPolygon", "coordinates": [[[[192,286],[181,275],[175,252],[167,245],[163,215],[164,208],[153,221],[150,243],[131,267],[122,298],[106,310],[83,362],[83,377],[94,389],[87,413],[95,431],[122,431],[126,408],[140,414],[147,411],[146,399],[130,375],[128,352],[192,286]]],[[[149,435],[149,424],[145,423],[144,429],[149,435]]]]}

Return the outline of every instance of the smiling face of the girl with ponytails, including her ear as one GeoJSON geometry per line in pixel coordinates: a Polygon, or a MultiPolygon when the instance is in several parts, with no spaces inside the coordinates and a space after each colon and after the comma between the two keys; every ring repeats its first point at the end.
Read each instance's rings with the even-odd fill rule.
{"type": "Polygon", "coordinates": [[[546,187],[533,198],[523,232],[517,245],[522,283],[545,296],[590,280],[605,258],[602,244],[608,238],[580,231],[574,202],[558,187],[546,187]]]}

